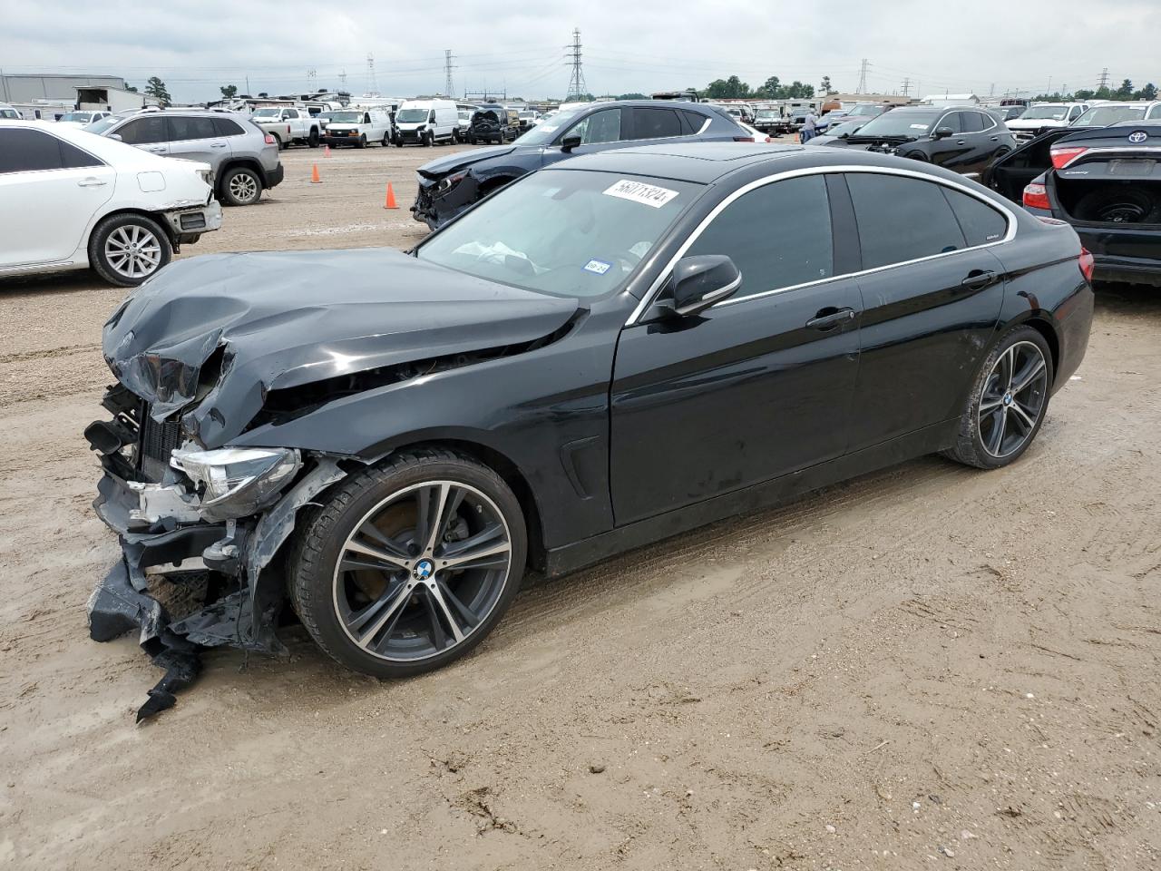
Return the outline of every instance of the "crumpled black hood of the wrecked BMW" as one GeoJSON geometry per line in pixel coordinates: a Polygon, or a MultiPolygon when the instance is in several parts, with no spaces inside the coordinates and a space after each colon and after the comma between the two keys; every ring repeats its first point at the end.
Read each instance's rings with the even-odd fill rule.
{"type": "Polygon", "coordinates": [[[245,429],[268,390],[533,341],[577,307],[392,249],[211,254],[130,294],[102,346],[154,419],[197,401],[187,422],[214,447],[245,429]]]}

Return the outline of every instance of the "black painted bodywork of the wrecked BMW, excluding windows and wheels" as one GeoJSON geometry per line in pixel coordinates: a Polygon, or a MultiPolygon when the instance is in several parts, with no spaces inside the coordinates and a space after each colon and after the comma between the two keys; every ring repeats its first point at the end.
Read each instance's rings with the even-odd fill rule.
{"type": "MultiPolygon", "coordinates": [[[[605,296],[334,251],[181,261],[118,309],[104,334],[115,418],[86,434],[104,470],[98,512],[124,559],[94,598],[94,638],[147,622],[143,647],[167,668],[197,646],[276,649],[277,554],[297,512],[404,449],[454,448],[495,469],[521,501],[531,562],[558,575],[950,447],[981,360],[1016,324],[1047,337],[1053,390],[1083,358],[1093,294],[1075,233],[952,172],[857,150],[679,143],[543,172],[672,179],[687,195],[605,296]],[[849,181],[860,173],[937,182],[988,206],[1003,230],[866,264],[849,181]],[[799,177],[825,190],[834,274],[665,317],[666,276],[701,228],[744,192],[799,177]],[[820,325],[838,310],[850,316],[820,325]],[[224,527],[190,520],[180,502],[153,516],[150,499],[180,484],[166,451],[186,439],[295,449],[303,465],[279,502],[224,527]],[[224,598],[180,620],[152,610],[144,569],[197,557],[224,598]]],[[[502,209],[506,195],[479,208],[502,209]]],[[[760,244],[765,229],[751,226],[760,244]]],[[[163,698],[187,682],[189,660],[178,660],[163,698]]]]}

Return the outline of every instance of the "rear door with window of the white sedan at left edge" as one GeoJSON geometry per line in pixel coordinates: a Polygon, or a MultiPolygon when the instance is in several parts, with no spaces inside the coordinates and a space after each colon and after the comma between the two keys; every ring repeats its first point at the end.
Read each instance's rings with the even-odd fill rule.
{"type": "Polygon", "coordinates": [[[66,260],[116,171],[43,130],[0,125],[0,268],[66,260]]]}

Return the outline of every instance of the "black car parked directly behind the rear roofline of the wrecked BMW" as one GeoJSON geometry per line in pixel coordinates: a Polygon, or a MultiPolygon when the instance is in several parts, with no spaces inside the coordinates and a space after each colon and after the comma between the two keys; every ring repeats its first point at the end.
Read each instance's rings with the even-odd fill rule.
{"type": "Polygon", "coordinates": [[[978,107],[901,106],[829,144],[899,154],[978,178],[993,160],[1016,149],[1016,137],[998,117],[978,107]]]}

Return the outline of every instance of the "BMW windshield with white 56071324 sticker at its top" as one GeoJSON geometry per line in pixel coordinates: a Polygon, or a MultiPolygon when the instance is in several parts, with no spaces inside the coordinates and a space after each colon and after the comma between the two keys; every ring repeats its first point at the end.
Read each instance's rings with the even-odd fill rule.
{"type": "Polygon", "coordinates": [[[423,243],[420,260],[551,296],[619,290],[701,185],[608,172],[526,175],[423,243]]]}

